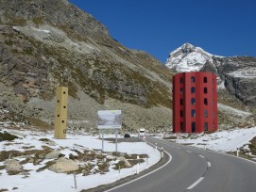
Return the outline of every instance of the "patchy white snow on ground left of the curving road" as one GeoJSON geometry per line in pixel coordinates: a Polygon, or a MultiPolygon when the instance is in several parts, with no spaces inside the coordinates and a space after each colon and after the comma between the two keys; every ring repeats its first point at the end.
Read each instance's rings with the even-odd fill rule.
{"type": "MultiPolygon", "coordinates": [[[[2,129],[2,131],[5,131],[2,129]]],[[[6,131],[9,131],[6,129],[6,131]]],[[[53,137],[52,132],[38,133],[31,132],[27,130],[23,131],[12,131],[12,134],[16,136],[23,137],[23,139],[15,139],[12,141],[11,145],[9,141],[0,142],[0,152],[1,151],[25,151],[26,147],[33,146],[29,150],[42,150],[42,146],[45,145],[41,138],[48,138],[56,143],[56,145],[51,145],[52,149],[61,148],[61,153],[65,154],[66,157],[70,153],[74,153],[74,149],[84,150],[84,149],[102,149],[102,141],[99,136],[86,136],[85,134],[77,135],[67,135],[66,139],[56,139],[53,137]],[[15,144],[13,144],[15,143],[15,144]]],[[[104,137],[114,137],[114,136],[104,136],[104,137]]],[[[118,136],[123,137],[123,136],[118,136]]],[[[115,152],[115,143],[104,141],[104,152],[115,152]]],[[[118,143],[118,152],[127,152],[128,154],[148,154],[148,159],[145,163],[140,164],[140,170],[151,167],[156,164],[160,158],[161,154],[157,150],[153,149],[145,142],[122,142],[118,143]]],[[[15,158],[16,159],[16,158],[15,158]]],[[[18,159],[19,161],[22,159],[18,159]]],[[[49,160],[44,160],[46,163],[49,160]]],[[[113,162],[114,163],[114,162],[113,162]]],[[[4,163],[0,162],[0,166],[4,163]]],[[[133,175],[136,173],[136,165],[132,168],[122,168],[120,173],[119,170],[110,168],[110,171],[106,174],[92,174],[87,176],[82,176],[82,174],[77,174],[77,189],[75,189],[75,181],[73,174],[65,173],[55,173],[51,170],[44,169],[41,172],[37,172],[38,168],[43,167],[42,165],[33,166],[32,163],[27,163],[23,165],[25,169],[30,169],[28,177],[24,174],[9,175],[5,169],[0,169],[0,190],[9,189],[12,191],[14,187],[18,187],[16,191],[80,191],[82,189],[88,189],[95,187],[100,184],[111,184],[121,178],[127,177],[128,175],[133,175]]]]}

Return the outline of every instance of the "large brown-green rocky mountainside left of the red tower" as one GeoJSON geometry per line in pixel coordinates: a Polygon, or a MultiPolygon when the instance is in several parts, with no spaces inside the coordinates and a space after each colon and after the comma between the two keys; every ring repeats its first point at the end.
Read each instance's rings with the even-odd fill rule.
{"type": "Polygon", "coordinates": [[[52,126],[56,87],[67,86],[70,127],[94,131],[97,110],[121,109],[126,130],[162,129],[171,124],[172,74],[66,0],[0,0],[3,114],[52,126]]]}

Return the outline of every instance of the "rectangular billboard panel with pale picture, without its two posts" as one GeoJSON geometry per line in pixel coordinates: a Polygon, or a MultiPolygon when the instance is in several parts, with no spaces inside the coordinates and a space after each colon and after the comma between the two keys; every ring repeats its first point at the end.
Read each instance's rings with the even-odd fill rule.
{"type": "Polygon", "coordinates": [[[121,129],[121,110],[98,111],[98,129],[121,129]]]}

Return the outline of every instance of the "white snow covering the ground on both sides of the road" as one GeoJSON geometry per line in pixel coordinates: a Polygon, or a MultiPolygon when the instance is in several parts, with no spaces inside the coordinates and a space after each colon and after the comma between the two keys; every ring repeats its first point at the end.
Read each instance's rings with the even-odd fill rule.
{"type": "MultiPolygon", "coordinates": [[[[2,130],[5,131],[5,130],[2,130]]],[[[20,151],[29,150],[43,150],[45,142],[40,141],[42,138],[47,138],[52,141],[49,147],[53,150],[60,150],[65,157],[69,157],[70,153],[76,155],[75,150],[84,151],[86,149],[100,152],[102,148],[102,141],[99,136],[88,136],[86,133],[79,133],[77,135],[67,135],[67,139],[55,139],[52,132],[33,132],[33,131],[15,131],[10,132],[13,135],[20,136],[22,139],[15,139],[14,141],[0,142],[1,151],[20,151]],[[53,144],[54,143],[54,144],[53,144]]],[[[176,134],[161,135],[157,137],[176,137],[176,134]]],[[[232,129],[229,131],[219,131],[213,134],[196,134],[196,135],[178,135],[179,139],[170,139],[173,142],[180,144],[191,145],[198,148],[206,148],[208,150],[218,152],[234,152],[236,148],[247,149],[249,141],[256,136],[256,127],[248,129],[232,129]]],[[[105,138],[114,136],[105,136],[105,138]]],[[[123,136],[118,136],[119,138],[123,136]]],[[[105,152],[115,152],[115,143],[105,141],[105,152]]],[[[140,164],[140,171],[156,164],[160,158],[160,152],[145,144],[145,142],[121,142],[118,143],[118,152],[128,154],[148,154],[148,159],[140,164]]],[[[22,161],[25,157],[16,158],[22,161]]],[[[136,174],[136,166],[131,168],[122,168],[121,171],[110,168],[109,172],[105,174],[95,173],[91,175],[77,174],[77,189],[75,188],[75,180],[73,174],[56,173],[49,169],[44,169],[38,172],[38,168],[42,168],[49,159],[43,160],[40,165],[34,166],[32,163],[26,163],[23,168],[28,171],[28,174],[9,175],[6,169],[0,168],[0,190],[8,189],[9,191],[80,191],[82,189],[93,188],[101,184],[111,184],[128,175],[136,174]]],[[[92,163],[92,162],[91,162],[92,163]]],[[[94,163],[94,162],[93,162],[94,163]]],[[[116,160],[112,161],[113,165],[116,160]]],[[[96,163],[95,163],[96,164],[96,163]]],[[[0,162],[0,167],[5,166],[5,162],[0,162]]]]}

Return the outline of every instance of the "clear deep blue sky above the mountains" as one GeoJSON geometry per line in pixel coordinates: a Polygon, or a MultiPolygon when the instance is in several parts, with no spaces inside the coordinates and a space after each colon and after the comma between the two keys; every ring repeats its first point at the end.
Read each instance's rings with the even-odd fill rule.
{"type": "Polygon", "coordinates": [[[256,56],[254,0],[70,0],[111,37],[165,63],[185,42],[218,56],[256,56]]]}

